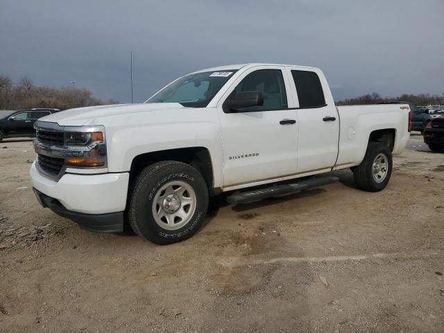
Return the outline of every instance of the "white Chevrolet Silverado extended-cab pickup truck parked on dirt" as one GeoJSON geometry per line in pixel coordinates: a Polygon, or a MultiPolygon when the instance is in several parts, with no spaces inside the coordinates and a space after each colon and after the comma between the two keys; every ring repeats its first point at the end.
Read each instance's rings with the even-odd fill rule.
{"type": "Polygon", "coordinates": [[[58,112],[35,123],[31,178],[43,207],[80,228],[155,244],[187,239],[210,196],[234,205],[338,181],[380,191],[409,139],[407,104],[336,107],[320,69],[230,65],[173,81],[142,104],[58,112]],[[303,178],[295,180],[295,178],[303,178]]]}

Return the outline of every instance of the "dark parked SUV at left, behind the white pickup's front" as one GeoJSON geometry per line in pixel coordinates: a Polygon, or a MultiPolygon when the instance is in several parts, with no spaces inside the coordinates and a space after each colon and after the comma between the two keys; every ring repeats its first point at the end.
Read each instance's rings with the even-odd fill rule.
{"type": "Polygon", "coordinates": [[[35,137],[35,121],[59,111],[48,108],[0,111],[0,142],[8,137],[35,137]]]}

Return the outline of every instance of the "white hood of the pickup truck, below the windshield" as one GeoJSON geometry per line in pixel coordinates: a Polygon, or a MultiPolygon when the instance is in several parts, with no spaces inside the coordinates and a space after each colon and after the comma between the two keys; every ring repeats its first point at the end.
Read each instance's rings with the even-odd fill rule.
{"type": "Polygon", "coordinates": [[[163,110],[163,112],[174,112],[175,110],[185,109],[180,103],[142,103],[142,104],[114,104],[89,106],[87,108],[69,109],[49,116],[40,118],[39,121],[49,121],[58,123],[60,126],[87,126],[87,125],[105,125],[107,119],[116,117],[126,119],[142,114],[163,110]],[[167,110],[165,110],[167,109],[167,110]]]}

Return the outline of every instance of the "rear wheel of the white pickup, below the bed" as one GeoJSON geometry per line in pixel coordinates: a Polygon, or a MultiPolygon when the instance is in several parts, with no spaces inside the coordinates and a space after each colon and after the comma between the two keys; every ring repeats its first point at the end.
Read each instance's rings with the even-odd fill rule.
{"type": "Polygon", "coordinates": [[[391,151],[386,144],[370,142],[364,160],[353,169],[355,184],[364,191],[381,191],[390,180],[392,167],[391,151]]]}

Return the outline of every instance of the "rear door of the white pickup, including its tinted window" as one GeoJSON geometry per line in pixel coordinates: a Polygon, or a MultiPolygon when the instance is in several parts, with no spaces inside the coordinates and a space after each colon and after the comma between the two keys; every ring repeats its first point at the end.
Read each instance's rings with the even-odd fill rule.
{"type": "Polygon", "coordinates": [[[298,173],[328,171],[338,155],[339,116],[327,80],[318,69],[287,70],[297,96],[298,173]]]}

